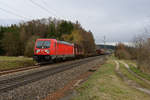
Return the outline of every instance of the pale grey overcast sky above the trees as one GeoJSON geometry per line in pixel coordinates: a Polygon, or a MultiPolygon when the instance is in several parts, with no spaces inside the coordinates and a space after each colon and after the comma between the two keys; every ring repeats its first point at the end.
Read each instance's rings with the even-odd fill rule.
{"type": "Polygon", "coordinates": [[[0,0],[1,25],[48,17],[78,20],[96,43],[129,42],[150,26],[150,0],[0,0]]]}

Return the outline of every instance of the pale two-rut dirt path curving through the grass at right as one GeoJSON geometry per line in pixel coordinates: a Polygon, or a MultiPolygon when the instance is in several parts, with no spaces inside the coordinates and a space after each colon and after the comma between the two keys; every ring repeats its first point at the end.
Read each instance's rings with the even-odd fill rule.
{"type": "MultiPolygon", "coordinates": [[[[123,79],[123,81],[124,81],[125,83],[127,83],[127,84],[128,84],[129,86],[131,86],[132,88],[135,88],[135,89],[137,89],[137,90],[140,90],[140,91],[142,91],[142,92],[147,93],[147,94],[150,95],[150,90],[149,90],[149,89],[143,88],[143,87],[141,87],[138,83],[136,83],[135,81],[128,79],[125,75],[123,75],[122,72],[120,72],[120,70],[119,70],[119,67],[120,67],[119,62],[115,60],[115,63],[116,63],[116,73],[117,73],[117,75],[118,75],[121,79],[123,79]]],[[[121,61],[120,63],[122,63],[122,64],[128,69],[128,71],[131,72],[132,74],[134,74],[137,78],[141,78],[141,77],[139,77],[137,74],[135,74],[134,72],[132,72],[132,71],[130,70],[130,67],[129,67],[128,64],[126,64],[125,62],[122,62],[122,61],[121,61]]],[[[142,78],[142,81],[145,82],[145,79],[142,78]]],[[[147,80],[146,80],[146,81],[147,81],[147,80]]]]}

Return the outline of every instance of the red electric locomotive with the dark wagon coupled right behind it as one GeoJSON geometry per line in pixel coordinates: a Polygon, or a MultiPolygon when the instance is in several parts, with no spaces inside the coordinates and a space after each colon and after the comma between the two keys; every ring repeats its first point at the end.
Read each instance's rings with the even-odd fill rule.
{"type": "Polygon", "coordinates": [[[34,60],[37,62],[65,59],[82,55],[78,45],[56,39],[37,39],[34,47],[34,60]]]}

